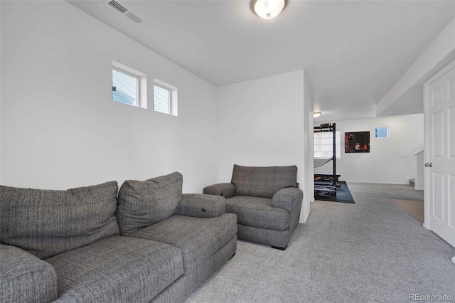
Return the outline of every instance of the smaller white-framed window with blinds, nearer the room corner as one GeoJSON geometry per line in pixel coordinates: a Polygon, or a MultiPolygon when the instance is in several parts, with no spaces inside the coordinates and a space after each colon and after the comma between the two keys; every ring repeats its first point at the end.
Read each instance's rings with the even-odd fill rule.
{"type": "Polygon", "coordinates": [[[154,110],[177,116],[177,87],[154,79],[154,110]]]}

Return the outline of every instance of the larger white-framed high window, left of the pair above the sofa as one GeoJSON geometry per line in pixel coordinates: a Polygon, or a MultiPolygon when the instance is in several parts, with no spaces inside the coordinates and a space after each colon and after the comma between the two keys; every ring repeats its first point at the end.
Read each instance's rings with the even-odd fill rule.
{"type": "Polygon", "coordinates": [[[112,62],[112,100],[124,105],[147,108],[147,78],[127,65],[112,62]]]}

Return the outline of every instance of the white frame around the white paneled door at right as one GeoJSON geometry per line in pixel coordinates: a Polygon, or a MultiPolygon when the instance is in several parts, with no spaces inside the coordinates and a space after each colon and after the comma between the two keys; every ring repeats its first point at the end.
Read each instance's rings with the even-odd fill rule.
{"type": "MultiPolygon", "coordinates": [[[[452,68],[455,68],[455,60],[451,61],[451,63],[447,64],[439,70],[436,74],[434,74],[431,78],[429,78],[424,83],[424,162],[429,162],[429,125],[428,125],[428,90],[429,85],[434,83],[434,81],[441,78],[442,75],[447,73],[452,68]]],[[[429,203],[429,169],[424,169],[424,228],[427,230],[432,230],[432,227],[429,223],[429,214],[430,214],[430,203],[429,203]]],[[[454,257],[455,258],[455,257],[454,257]]],[[[455,262],[455,260],[454,260],[455,262]]]]}

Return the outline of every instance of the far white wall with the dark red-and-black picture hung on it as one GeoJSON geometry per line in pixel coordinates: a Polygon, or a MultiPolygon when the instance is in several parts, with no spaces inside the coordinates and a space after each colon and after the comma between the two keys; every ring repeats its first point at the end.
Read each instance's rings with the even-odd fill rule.
{"type": "MultiPolygon", "coordinates": [[[[406,156],[424,142],[424,115],[401,115],[336,122],[341,131],[341,159],[336,161],[340,180],[385,184],[409,184],[407,177],[416,174],[416,156],[406,156]],[[375,139],[375,127],[390,127],[390,138],[375,139]],[[370,131],[370,153],[346,154],[344,133],[370,131]]],[[[315,124],[316,125],[316,124],[315,124]]],[[[315,163],[321,161],[315,160],[315,163]]],[[[331,174],[332,164],[315,169],[331,174]]]]}

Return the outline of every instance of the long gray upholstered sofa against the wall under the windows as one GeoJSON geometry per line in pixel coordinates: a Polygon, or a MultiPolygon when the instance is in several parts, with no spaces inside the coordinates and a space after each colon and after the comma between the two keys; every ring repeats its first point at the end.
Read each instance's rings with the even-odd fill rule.
{"type": "Polygon", "coordinates": [[[0,302],[182,302],[235,254],[225,198],[181,174],[117,190],[0,186],[0,302]]]}

